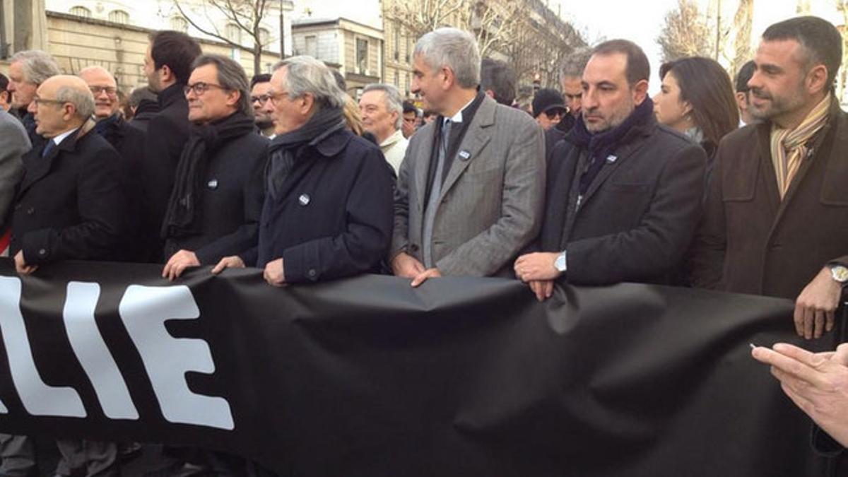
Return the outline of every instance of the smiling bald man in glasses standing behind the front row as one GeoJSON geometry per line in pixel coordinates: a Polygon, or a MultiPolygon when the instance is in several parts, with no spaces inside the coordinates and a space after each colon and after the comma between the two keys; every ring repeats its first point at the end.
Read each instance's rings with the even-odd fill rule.
{"type": "Polygon", "coordinates": [[[136,238],[142,229],[142,172],[147,133],[132,126],[120,114],[118,83],[102,66],[89,66],[80,71],[94,98],[94,132],[112,145],[120,155],[121,188],[127,199],[125,253],[128,261],[144,261],[142,243],[136,238]]]}

